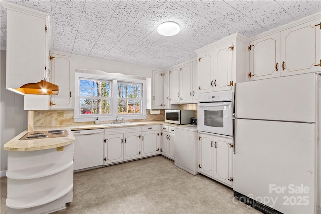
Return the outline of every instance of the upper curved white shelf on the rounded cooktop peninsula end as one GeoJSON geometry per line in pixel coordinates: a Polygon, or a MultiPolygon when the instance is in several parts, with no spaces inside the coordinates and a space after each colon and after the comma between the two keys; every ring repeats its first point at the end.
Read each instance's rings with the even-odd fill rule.
{"type": "Polygon", "coordinates": [[[73,161],[65,163],[52,163],[43,166],[36,166],[32,168],[25,168],[14,171],[7,171],[6,176],[15,180],[28,180],[40,177],[46,177],[64,171],[73,164],[73,161]]]}

